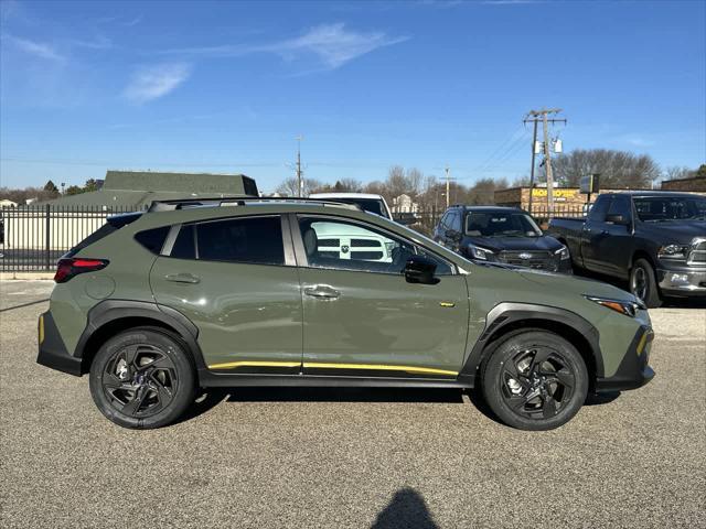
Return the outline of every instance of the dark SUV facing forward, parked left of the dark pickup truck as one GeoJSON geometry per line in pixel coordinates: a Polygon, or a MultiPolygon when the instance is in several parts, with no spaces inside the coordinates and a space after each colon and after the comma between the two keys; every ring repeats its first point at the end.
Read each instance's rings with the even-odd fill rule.
{"type": "Polygon", "coordinates": [[[452,206],[435,228],[434,240],[472,261],[571,272],[566,246],[514,207],[452,206]]]}

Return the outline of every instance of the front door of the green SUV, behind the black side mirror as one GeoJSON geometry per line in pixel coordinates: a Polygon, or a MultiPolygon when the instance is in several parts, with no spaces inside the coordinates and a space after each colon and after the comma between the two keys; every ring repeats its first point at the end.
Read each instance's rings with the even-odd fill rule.
{"type": "Polygon", "coordinates": [[[429,250],[379,227],[331,216],[292,216],[303,305],[303,373],[365,377],[454,378],[469,319],[466,279],[429,250]],[[341,259],[319,234],[355,228],[379,239],[375,252],[341,259]],[[402,271],[411,255],[437,261],[437,284],[413,284],[402,271]]]}

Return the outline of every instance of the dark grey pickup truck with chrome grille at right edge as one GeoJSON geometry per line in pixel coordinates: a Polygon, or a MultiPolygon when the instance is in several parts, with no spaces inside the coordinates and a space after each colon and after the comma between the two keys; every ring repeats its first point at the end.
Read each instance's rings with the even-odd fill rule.
{"type": "Polygon", "coordinates": [[[640,191],[599,195],[588,217],[555,218],[548,233],[575,267],[628,280],[648,306],[706,296],[706,197],[640,191]]]}

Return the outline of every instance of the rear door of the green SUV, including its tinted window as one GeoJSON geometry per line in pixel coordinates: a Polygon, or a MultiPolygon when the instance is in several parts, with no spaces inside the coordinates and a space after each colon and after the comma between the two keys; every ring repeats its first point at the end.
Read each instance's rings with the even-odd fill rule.
{"type": "Polygon", "coordinates": [[[302,307],[289,225],[269,215],[172,230],[150,283],[160,305],[196,325],[208,368],[299,374],[302,307]]]}

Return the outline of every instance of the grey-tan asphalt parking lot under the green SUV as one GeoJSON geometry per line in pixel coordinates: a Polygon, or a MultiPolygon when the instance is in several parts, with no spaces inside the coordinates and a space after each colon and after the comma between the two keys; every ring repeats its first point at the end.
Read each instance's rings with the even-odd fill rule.
{"type": "Polygon", "coordinates": [[[527,433],[446,390],[247,389],[105,420],[43,368],[53,283],[0,282],[2,527],[705,527],[706,309],[651,311],[652,384],[527,433]]]}

